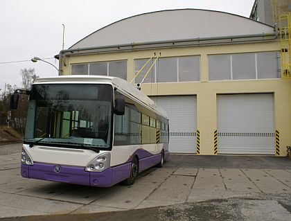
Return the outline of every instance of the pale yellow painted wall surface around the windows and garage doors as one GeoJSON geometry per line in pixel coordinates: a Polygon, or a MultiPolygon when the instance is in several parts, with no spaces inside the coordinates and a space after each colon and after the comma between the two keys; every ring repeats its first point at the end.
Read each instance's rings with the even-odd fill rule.
{"type": "MultiPolygon", "coordinates": [[[[169,82],[144,84],[142,91],[148,96],[197,96],[197,130],[200,130],[200,154],[214,154],[213,133],[217,129],[216,98],[218,94],[274,94],[275,130],[280,133],[280,156],[286,155],[286,146],[291,145],[291,80],[228,80],[209,81],[207,55],[224,53],[249,53],[280,51],[279,42],[256,44],[233,44],[218,46],[195,46],[188,48],[165,48],[159,50],[100,53],[96,55],[73,55],[65,59],[62,74],[71,73],[71,64],[127,60],[127,80],[134,78],[134,59],[150,58],[161,53],[161,58],[171,56],[200,55],[200,82],[169,82]]],[[[275,154],[275,147],[274,147],[275,154]]]]}

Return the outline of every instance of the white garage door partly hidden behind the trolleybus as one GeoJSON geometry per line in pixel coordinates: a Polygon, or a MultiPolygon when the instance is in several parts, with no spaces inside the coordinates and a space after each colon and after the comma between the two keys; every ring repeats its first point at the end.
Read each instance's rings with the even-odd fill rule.
{"type": "Polygon", "coordinates": [[[170,152],[196,152],[196,96],[152,98],[166,110],[170,123],[170,152]]]}

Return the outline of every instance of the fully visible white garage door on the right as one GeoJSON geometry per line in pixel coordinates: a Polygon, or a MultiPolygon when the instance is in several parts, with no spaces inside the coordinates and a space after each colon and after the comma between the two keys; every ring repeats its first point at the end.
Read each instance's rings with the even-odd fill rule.
{"type": "Polygon", "coordinates": [[[274,154],[273,94],[218,95],[218,154],[274,154]]]}

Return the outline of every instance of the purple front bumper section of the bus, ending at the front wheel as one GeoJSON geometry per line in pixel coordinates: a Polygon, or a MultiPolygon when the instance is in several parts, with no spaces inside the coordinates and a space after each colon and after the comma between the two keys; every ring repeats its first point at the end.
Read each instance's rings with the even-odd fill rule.
{"type": "Polygon", "coordinates": [[[103,172],[87,172],[78,166],[60,166],[46,163],[34,163],[33,166],[21,164],[21,176],[44,179],[69,184],[109,187],[130,177],[130,163],[108,168],[103,172]],[[60,171],[56,172],[56,166],[60,171]]]}

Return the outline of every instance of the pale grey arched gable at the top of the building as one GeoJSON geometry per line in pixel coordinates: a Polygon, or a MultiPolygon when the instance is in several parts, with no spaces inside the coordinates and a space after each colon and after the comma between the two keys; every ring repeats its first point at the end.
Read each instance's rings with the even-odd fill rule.
{"type": "Polygon", "coordinates": [[[163,10],[116,21],[81,39],[70,49],[273,32],[272,26],[227,12],[200,9],[163,10]]]}

